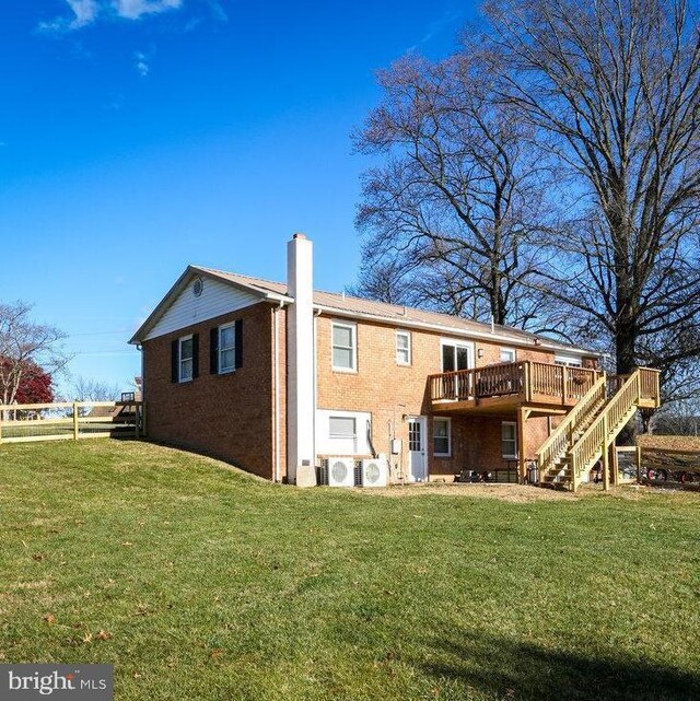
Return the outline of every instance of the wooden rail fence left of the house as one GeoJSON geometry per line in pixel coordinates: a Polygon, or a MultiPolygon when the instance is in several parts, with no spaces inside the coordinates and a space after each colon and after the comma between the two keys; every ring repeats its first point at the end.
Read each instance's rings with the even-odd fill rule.
{"type": "Polygon", "coordinates": [[[0,405],[0,443],[139,437],[144,419],[143,402],[133,399],[0,405]]]}

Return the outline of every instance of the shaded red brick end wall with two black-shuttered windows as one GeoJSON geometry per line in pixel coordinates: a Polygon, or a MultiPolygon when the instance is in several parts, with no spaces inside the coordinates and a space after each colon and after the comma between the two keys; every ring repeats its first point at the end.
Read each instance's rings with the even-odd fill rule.
{"type": "Polygon", "coordinates": [[[149,437],[220,457],[272,479],[271,315],[269,304],[256,304],[145,341],[149,437]],[[229,374],[211,375],[209,330],[235,319],[243,319],[243,366],[229,374]],[[187,334],[199,334],[199,377],[173,383],[171,343],[187,334]]]}

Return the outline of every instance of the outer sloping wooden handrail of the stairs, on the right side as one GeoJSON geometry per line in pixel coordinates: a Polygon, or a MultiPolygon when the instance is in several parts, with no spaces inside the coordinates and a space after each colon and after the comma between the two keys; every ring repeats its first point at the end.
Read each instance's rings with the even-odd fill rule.
{"type": "Polygon", "coordinates": [[[579,484],[582,466],[586,466],[598,451],[606,451],[621,430],[618,424],[627,412],[640,401],[640,371],[634,372],[622,383],[593,423],[571,447],[571,479],[573,489],[579,484]],[[610,433],[612,437],[610,439],[610,433]]]}

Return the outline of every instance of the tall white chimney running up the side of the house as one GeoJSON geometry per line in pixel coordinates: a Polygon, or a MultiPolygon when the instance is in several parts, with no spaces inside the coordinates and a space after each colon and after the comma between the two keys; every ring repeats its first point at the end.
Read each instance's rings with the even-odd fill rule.
{"type": "Polygon", "coordinates": [[[316,484],[314,423],[314,255],[304,234],[287,244],[288,311],[287,477],[300,487],[316,484]]]}

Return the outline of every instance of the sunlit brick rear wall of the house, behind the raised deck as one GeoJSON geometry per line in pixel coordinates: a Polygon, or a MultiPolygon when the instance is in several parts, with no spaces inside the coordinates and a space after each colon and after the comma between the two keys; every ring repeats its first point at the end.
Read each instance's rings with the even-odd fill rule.
{"type": "MultiPolygon", "coordinates": [[[[432,408],[428,397],[428,375],[442,371],[441,338],[431,331],[410,330],[411,365],[396,363],[395,332],[385,324],[359,322],[358,372],[335,372],[331,367],[331,320],[317,319],[317,404],[319,409],[372,412],[372,442],[378,453],[386,453],[394,480],[408,472],[407,416],[428,416],[427,455],[431,477],[456,475],[462,469],[492,470],[509,465],[502,457],[501,421],[515,421],[515,413],[502,416],[453,416],[452,456],[433,456],[432,408]],[[390,435],[402,441],[402,454],[389,455],[390,435]]],[[[343,320],[338,318],[338,320],[343,320]]],[[[477,367],[501,362],[501,347],[488,340],[477,340],[477,367]],[[482,358],[479,358],[482,349],[482,358]]],[[[553,353],[537,348],[516,348],[517,360],[553,362],[553,353]]],[[[439,414],[435,414],[439,416],[439,414]]],[[[525,424],[525,456],[535,451],[547,437],[547,419],[528,419],[525,424]]]]}

